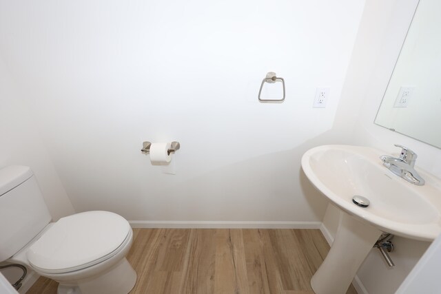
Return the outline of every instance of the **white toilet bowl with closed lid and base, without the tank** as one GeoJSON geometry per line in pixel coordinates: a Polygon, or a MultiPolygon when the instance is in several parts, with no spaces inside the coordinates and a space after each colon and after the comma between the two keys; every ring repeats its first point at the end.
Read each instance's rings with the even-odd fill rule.
{"type": "Polygon", "coordinates": [[[59,282],[59,294],[128,293],[136,282],[125,259],[132,239],[130,224],[116,213],[76,213],[48,224],[8,262],[59,282]]]}

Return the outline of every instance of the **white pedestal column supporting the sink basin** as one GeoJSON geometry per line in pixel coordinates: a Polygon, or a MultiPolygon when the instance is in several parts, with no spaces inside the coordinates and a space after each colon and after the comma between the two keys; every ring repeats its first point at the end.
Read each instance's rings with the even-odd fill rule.
{"type": "Polygon", "coordinates": [[[311,278],[316,294],[345,294],[382,231],[341,211],[334,243],[311,278]]]}

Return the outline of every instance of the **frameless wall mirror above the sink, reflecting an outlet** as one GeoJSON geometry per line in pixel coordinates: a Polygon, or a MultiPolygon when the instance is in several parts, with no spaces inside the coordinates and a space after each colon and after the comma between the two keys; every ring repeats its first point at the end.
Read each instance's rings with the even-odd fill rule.
{"type": "Polygon", "coordinates": [[[441,1],[420,0],[375,123],[441,148],[441,1]]]}

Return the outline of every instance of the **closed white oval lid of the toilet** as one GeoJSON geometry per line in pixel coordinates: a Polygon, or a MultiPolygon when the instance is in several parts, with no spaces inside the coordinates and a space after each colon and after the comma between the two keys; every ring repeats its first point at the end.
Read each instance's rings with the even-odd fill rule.
{"type": "Polygon", "coordinates": [[[32,266],[48,273],[75,271],[107,259],[103,257],[118,249],[131,230],[116,213],[76,213],[52,225],[26,255],[32,266]]]}

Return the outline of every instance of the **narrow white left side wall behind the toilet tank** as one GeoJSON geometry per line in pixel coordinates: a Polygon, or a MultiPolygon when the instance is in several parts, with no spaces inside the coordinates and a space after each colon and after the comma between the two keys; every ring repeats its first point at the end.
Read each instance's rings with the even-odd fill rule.
{"type": "Polygon", "coordinates": [[[52,218],[58,220],[74,213],[74,209],[17,87],[0,58],[0,168],[31,167],[52,218]]]}

